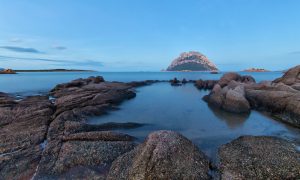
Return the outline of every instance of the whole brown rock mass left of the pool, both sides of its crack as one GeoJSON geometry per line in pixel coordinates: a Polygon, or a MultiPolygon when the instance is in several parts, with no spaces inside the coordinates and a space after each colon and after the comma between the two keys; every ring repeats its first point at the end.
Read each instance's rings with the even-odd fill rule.
{"type": "Polygon", "coordinates": [[[106,130],[138,124],[85,124],[135,96],[132,85],[102,77],[57,85],[48,97],[17,101],[0,93],[0,175],[4,179],[105,179],[111,163],[135,147],[134,138],[106,130]]]}

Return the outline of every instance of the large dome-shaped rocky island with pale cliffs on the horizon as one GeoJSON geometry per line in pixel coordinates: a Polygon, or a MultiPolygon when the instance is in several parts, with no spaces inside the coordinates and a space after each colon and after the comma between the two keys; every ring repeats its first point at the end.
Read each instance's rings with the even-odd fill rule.
{"type": "Polygon", "coordinates": [[[218,71],[214,65],[205,55],[196,52],[181,53],[178,58],[172,61],[167,71],[218,71]]]}

